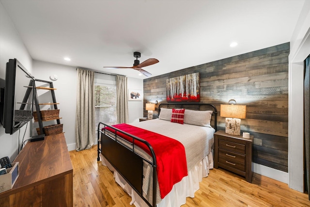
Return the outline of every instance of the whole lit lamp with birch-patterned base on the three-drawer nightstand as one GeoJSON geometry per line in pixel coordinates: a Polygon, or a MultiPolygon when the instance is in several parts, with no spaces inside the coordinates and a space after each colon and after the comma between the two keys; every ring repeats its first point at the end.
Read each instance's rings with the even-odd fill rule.
{"type": "Polygon", "coordinates": [[[236,105],[236,101],[233,99],[229,100],[228,103],[229,104],[221,104],[220,106],[220,116],[226,117],[225,132],[227,134],[240,135],[240,119],[246,118],[247,106],[236,105]]]}

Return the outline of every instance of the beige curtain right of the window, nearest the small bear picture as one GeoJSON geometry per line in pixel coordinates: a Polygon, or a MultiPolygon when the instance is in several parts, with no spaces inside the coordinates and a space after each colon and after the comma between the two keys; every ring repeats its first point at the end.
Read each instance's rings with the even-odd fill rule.
{"type": "Polygon", "coordinates": [[[116,77],[116,111],[117,123],[128,122],[128,93],[127,93],[127,77],[116,77]]]}

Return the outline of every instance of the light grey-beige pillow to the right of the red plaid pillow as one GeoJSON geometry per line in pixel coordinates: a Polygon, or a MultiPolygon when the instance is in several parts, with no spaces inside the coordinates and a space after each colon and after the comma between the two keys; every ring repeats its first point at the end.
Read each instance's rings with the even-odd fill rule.
{"type": "Polygon", "coordinates": [[[213,111],[195,111],[186,109],[184,112],[184,124],[210,127],[213,111]]]}

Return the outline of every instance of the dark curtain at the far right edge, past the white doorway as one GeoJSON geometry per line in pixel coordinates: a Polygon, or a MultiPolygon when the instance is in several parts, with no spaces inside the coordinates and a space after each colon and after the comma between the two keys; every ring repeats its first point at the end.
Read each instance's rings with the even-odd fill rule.
{"type": "Polygon", "coordinates": [[[310,165],[310,160],[309,160],[309,149],[310,149],[310,134],[309,134],[309,122],[310,122],[310,116],[309,116],[309,102],[310,102],[310,95],[309,95],[309,81],[310,81],[310,55],[308,58],[305,60],[306,62],[306,67],[305,67],[305,82],[304,82],[304,119],[305,119],[305,189],[308,191],[308,198],[310,200],[310,186],[309,186],[309,180],[310,180],[310,175],[309,175],[309,165],[310,165]]]}

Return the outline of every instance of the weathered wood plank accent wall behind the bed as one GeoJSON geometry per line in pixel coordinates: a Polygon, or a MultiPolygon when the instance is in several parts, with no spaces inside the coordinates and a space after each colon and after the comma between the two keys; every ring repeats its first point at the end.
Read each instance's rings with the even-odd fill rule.
{"type": "MultiPolygon", "coordinates": [[[[201,103],[218,110],[217,129],[225,130],[220,104],[247,105],[241,133],[254,135],[253,162],[288,172],[288,55],[290,43],[144,79],[143,106],[166,101],[166,80],[200,72],[201,103]]],[[[156,112],[155,112],[156,113],[156,112]]]]}

